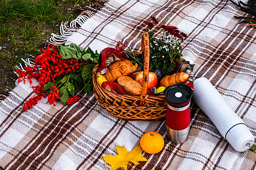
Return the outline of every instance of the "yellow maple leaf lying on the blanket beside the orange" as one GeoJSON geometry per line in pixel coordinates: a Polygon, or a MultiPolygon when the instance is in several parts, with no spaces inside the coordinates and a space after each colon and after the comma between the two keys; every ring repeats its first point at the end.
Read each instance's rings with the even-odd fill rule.
{"type": "Polygon", "coordinates": [[[142,156],[142,148],[137,145],[130,152],[126,150],[125,146],[115,146],[118,155],[106,155],[102,156],[105,160],[105,164],[110,164],[110,170],[117,169],[120,167],[127,168],[127,164],[132,162],[138,165],[138,161],[147,161],[147,158],[142,156]]]}

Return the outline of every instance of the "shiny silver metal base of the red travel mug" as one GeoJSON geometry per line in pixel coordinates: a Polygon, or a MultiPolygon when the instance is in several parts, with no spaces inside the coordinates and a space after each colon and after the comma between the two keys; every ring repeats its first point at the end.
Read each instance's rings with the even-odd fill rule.
{"type": "Polygon", "coordinates": [[[190,125],[184,130],[172,130],[166,125],[168,138],[172,143],[184,143],[188,139],[190,125]]]}

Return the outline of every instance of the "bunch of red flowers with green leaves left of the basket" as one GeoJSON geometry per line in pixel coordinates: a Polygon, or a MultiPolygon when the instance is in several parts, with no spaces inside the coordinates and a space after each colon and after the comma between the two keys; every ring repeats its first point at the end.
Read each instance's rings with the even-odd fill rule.
{"type": "Polygon", "coordinates": [[[37,96],[25,102],[23,111],[36,105],[42,97],[47,97],[47,103],[55,105],[56,100],[63,104],[73,104],[81,99],[81,93],[90,94],[93,83],[92,70],[98,62],[99,54],[90,48],[82,49],[71,44],[68,46],[48,46],[34,60],[35,66],[23,67],[16,70],[18,83],[21,79],[26,82],[26,77],[38,81],[38,86],[32,86],[37,96]],[[80,91],[75,95],[76,91],[80,91]]]}

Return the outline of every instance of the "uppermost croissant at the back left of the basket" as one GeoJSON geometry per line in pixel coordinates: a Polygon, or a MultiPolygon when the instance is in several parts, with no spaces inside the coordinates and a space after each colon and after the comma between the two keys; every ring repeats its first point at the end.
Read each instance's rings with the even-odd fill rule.
{"type": "Polygon", "coordinates": [[[114,82],[122,75],[129,75],[134,73],[137,67],[137,63],[134,66],[133,61],[130,61],[129,59],[123,59],[121,61],[116,61],[108,66],[108,70],[105,74],[103,74],[103,76],[107,81],[114,82]]]}

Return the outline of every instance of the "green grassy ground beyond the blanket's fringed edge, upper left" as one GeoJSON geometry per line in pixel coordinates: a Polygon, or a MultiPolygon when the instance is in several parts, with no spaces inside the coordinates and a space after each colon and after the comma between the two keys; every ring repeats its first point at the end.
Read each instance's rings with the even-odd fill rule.
{"type": "Polygon", "coordinates": [[[2,49],[2,53],[13,58],[10,66],[16,65],[20,58],[27,58],[29,54],[40,54],[41,45],[49,39],[49,34],[59,32],[56,25],[76,18],[77,15],[72,16],[67,9],[76,4],[89,3],[88,0],[0,0],[0,46],[7,44],[7,50],[2,49]]]}

